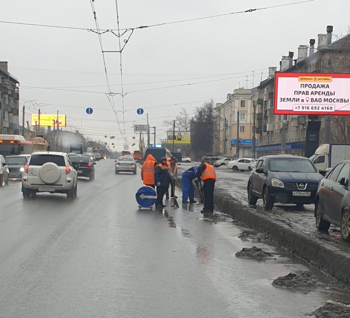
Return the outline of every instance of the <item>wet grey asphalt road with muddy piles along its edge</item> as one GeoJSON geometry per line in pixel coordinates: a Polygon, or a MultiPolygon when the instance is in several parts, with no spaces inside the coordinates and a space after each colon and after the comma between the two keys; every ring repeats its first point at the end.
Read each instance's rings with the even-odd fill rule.
{"type": "Polygon", "coordinates": [[[23,200],[19,182],[0,188],[0,317],[299,317],[327,299],[348,299],[278,248],[240,240],[242,224],[204,220],[199,203],[139,210],[139,173],[114,175],[113,160],[99,162],[96,180],[80,179],[74,201],[23,200]],[[253,245],[276,260],[235,257],[253,245]],[[271,285],[292,271],[324,285],[271,285]]]}

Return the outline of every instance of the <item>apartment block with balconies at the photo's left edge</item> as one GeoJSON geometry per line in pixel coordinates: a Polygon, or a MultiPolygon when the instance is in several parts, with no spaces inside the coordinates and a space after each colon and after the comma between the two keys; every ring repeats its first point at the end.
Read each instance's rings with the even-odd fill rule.
{"type": "Polygon", "coordinates": [[[19,81],[0,62],[0,134],[19,134],[19,81]]]}

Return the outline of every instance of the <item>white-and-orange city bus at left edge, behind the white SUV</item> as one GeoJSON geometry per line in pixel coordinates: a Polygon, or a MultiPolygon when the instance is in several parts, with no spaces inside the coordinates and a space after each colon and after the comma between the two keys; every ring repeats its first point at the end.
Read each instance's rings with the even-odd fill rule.
{"type": "Polygon", "coordinates": [[[33,143],[20,135],[0,135],[0,154],[8,155],[31,154],[33,143]]]}

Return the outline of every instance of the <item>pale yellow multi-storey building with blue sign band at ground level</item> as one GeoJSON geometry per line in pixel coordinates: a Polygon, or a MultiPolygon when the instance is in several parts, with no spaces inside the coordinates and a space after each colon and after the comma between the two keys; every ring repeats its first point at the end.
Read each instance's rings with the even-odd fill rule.
{"type": "MultiPolygon", "coordinates": [[[[251,157],[253,138],[253,103],[257,103],[258,90],[239,88],[227,95],[225,103],[215,105],[215,152],[236,155],[237,111],[239,157],[251,157]]],[[[255,136],[257,137],[257,135],[255,136]]]]}

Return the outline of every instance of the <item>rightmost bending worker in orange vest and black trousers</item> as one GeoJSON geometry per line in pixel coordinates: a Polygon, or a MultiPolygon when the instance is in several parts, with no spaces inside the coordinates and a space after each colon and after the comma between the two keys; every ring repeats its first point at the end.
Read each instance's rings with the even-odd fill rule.
{"type": "Polygon", "coordinates": [[[202,164],[198,166],[197,170],[198,182],[203,180],[204,186],[204,208],[201,213],[213,214],[214,212],[214,187],[216,181],[216,173],[213,166],[209,164],[209,161],[204,160],[202,164]]]}

